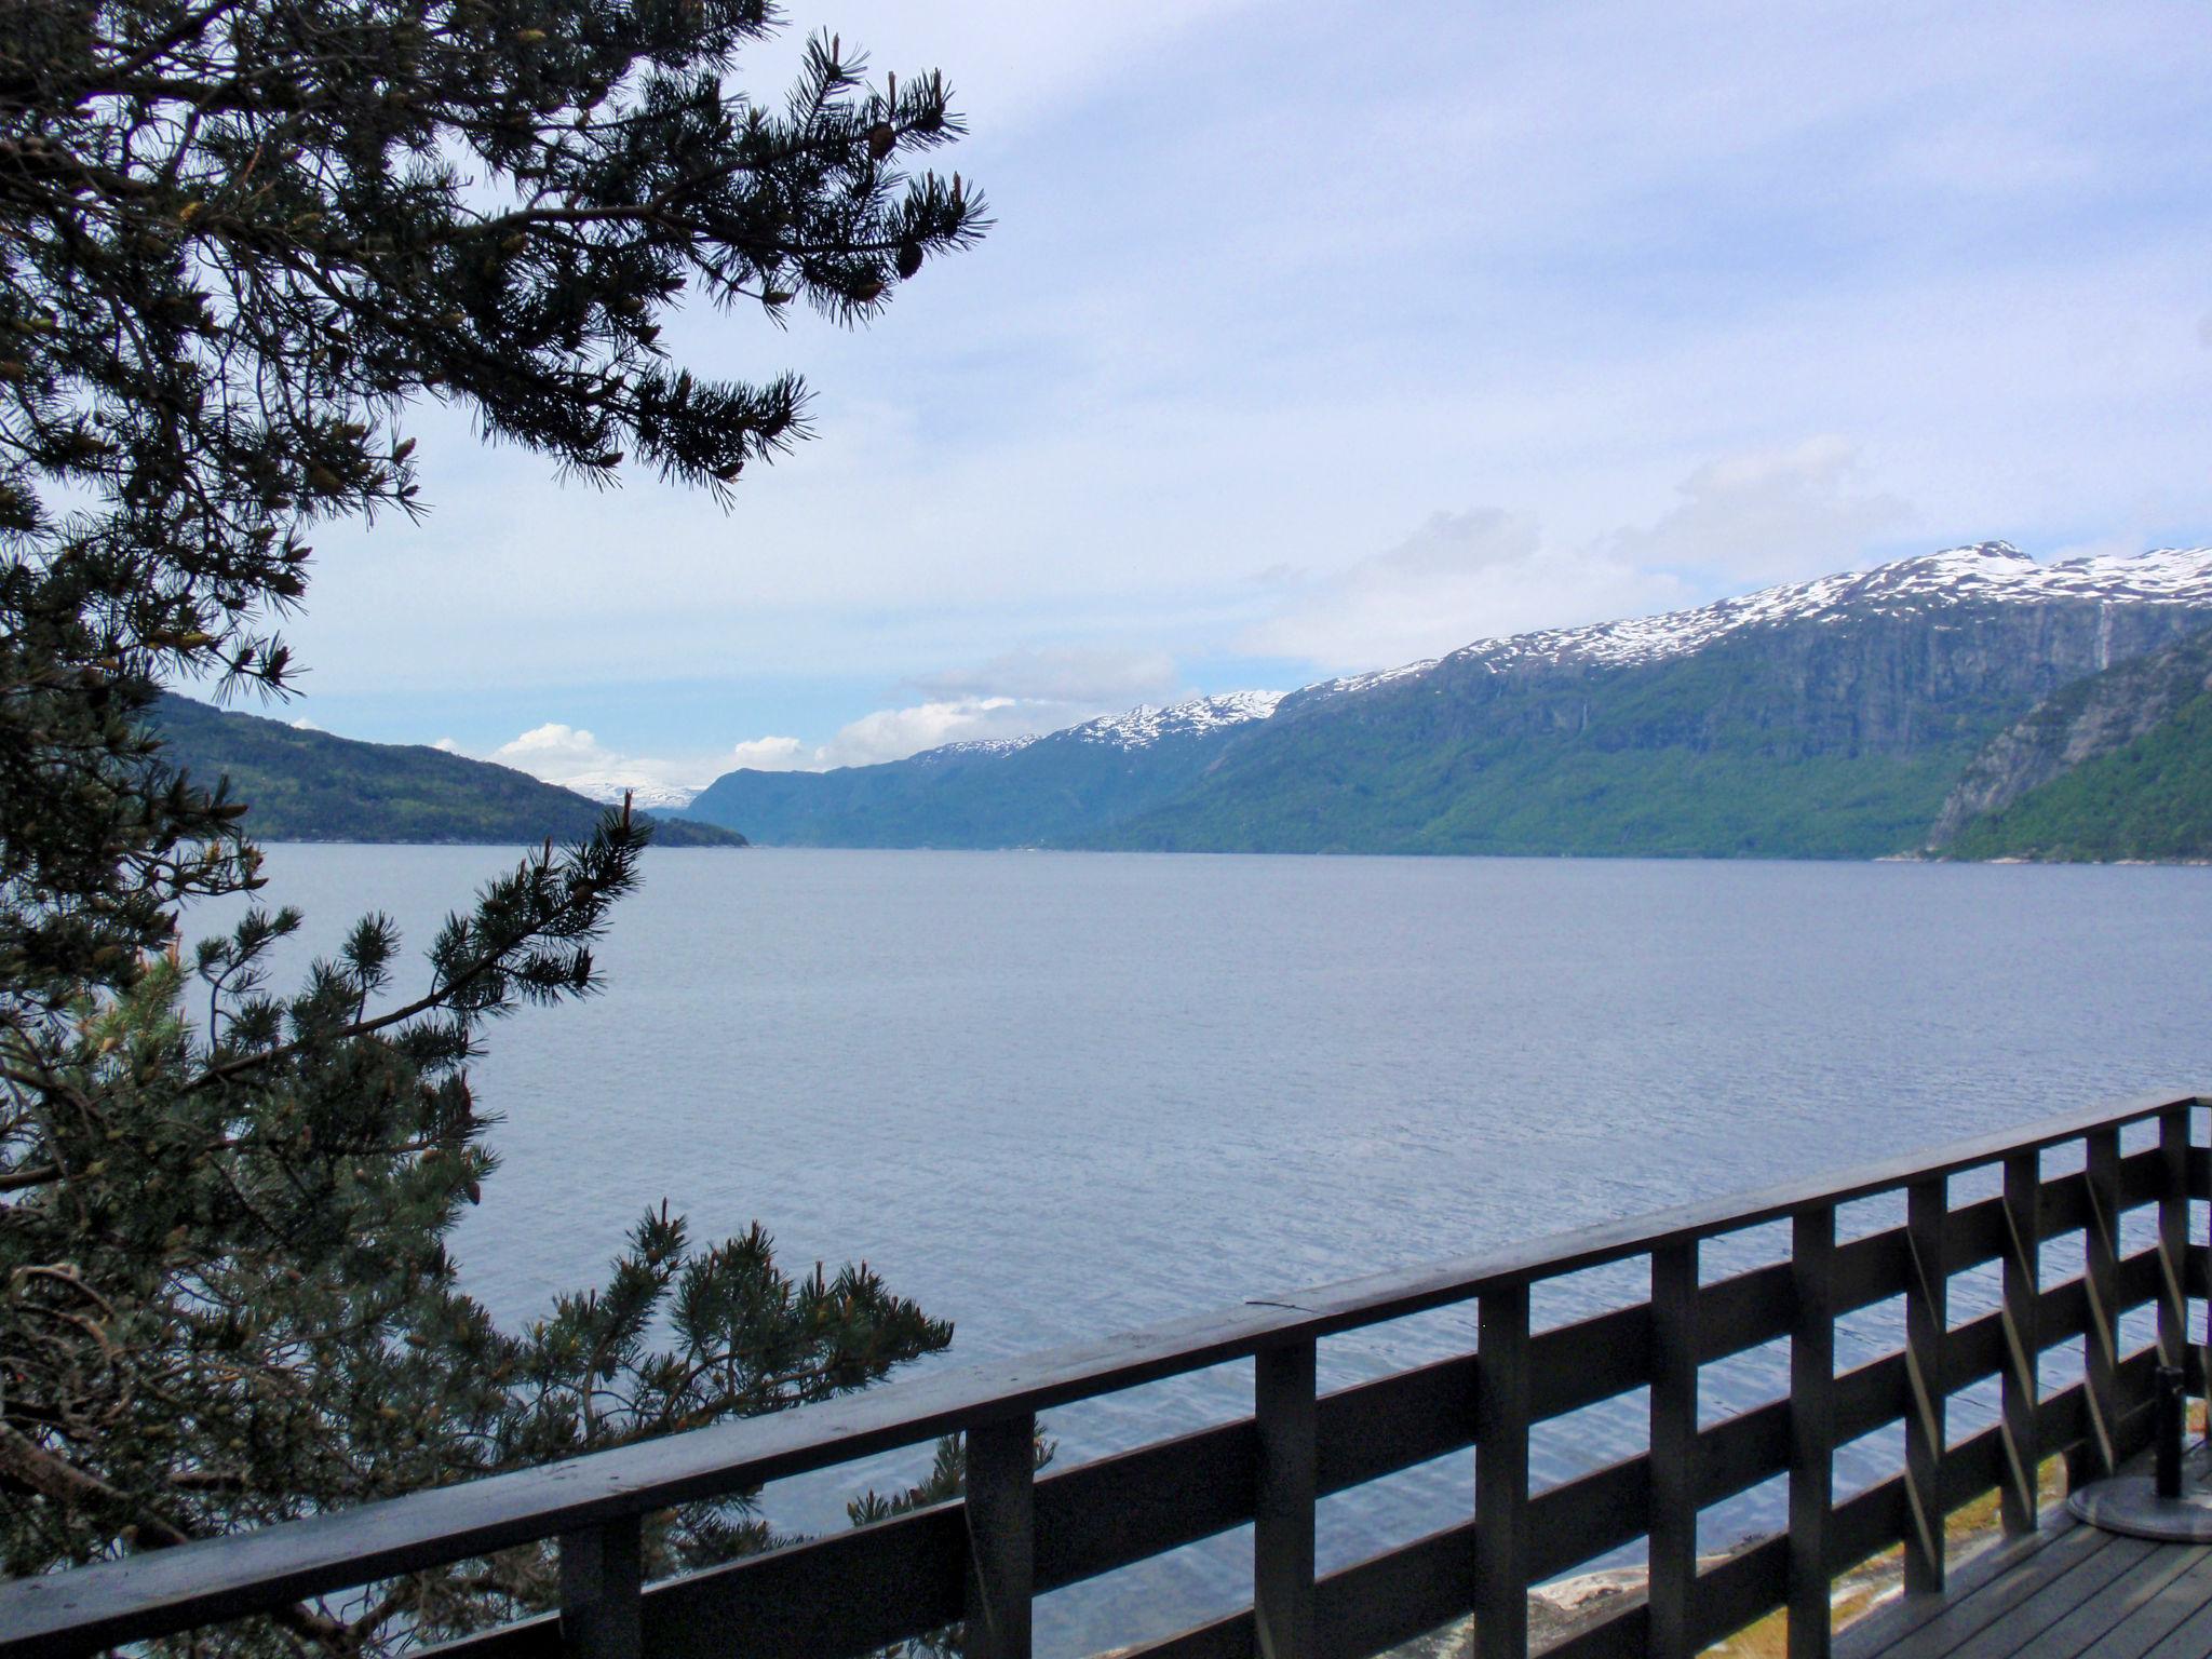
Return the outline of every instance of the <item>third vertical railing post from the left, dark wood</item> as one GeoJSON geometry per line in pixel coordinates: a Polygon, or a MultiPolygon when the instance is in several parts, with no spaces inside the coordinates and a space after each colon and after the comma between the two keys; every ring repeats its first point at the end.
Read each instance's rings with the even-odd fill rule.
{"type": "Polygon", "coordinates": [[[1263,1347],[1252,1378],[1259,1513],[1252,1615],[1259,1659],[1314,1659],[1314,1340],[1263,1347]]]}

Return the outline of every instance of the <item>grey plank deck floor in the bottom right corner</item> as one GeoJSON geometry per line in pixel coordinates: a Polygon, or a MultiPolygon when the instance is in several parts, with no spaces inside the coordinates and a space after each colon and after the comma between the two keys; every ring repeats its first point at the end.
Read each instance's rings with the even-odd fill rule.
{"type": "Polygon", "coordinates": [[[1942,1595],[1882,1608],[1836,1659],[2205,1659],[2212,1546],[2146,1544],[2064,1511],[1962,1564],[1942,1595]]]}

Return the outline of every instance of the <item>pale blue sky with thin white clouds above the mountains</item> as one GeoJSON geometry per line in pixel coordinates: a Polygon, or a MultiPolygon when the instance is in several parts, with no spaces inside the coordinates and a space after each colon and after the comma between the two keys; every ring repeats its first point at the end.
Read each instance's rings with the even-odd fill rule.
{"type": "Polygon", "coordinates": [[[2084,7],[792,0],[942,69],[995,228],[730,511],[420,407],[279,712],[701,785],[1292,688],[1938,546],[2212,540],[2212,31],[2084,7]]]}

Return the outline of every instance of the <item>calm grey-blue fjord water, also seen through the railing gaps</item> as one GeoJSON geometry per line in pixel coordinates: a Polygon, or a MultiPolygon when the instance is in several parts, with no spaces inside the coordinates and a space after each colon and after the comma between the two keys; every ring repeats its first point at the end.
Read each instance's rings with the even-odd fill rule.
{"type": "MultiPolygon", "coordinates": [[[[511,858],[274,847],[270,898],[323,947],[365,907],[420,945],[511,858]]],[[[467,1285],[529,1318],[666,1197],[792,1270],[867,1259],[956,1321],[951,1365],[2212,1082],[2208,869],[657,852],[602,967],[489,1033],[467,1285]]],[[[1537,1318],[1637,1294],[1601,1279],[1537,1318]]],[[[1336,1338],[1323,1385],[1469,1345],[1464,1314],[1336,1338]]],[[[1708,1416],[1772,1358],[1708,1371],[1708,1416]]],[[[1048,1431],[1073,1462],[1241,1411],[1223,1367],[1048,1431]]],[[[1639,1447],[1635,1400],[1577,1413],[1537,1480],[1639,1447]]],[[[847,1486],[770,1517],[841,1526],[847,1486]]],[[[1469,1493],[1453,1458],[1329,1500],[1323,1566],[1469,1493]]],[[[1046,1597],[1040,1639],[1223,1610],[1241,1551],[1046,1597]]]]}

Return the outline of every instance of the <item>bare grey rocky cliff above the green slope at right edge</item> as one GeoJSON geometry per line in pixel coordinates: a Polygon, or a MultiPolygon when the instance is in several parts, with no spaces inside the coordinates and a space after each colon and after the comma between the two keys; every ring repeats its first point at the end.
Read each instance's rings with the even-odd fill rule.
{"type": "Polygon", "coordinates": [[[2126,748],[2205,690],[2212,690],[2212,633],[2064,686],[1973,759],[1944,796],[1929,847],[1949,847],[1971,821],[2126,748]]]}

